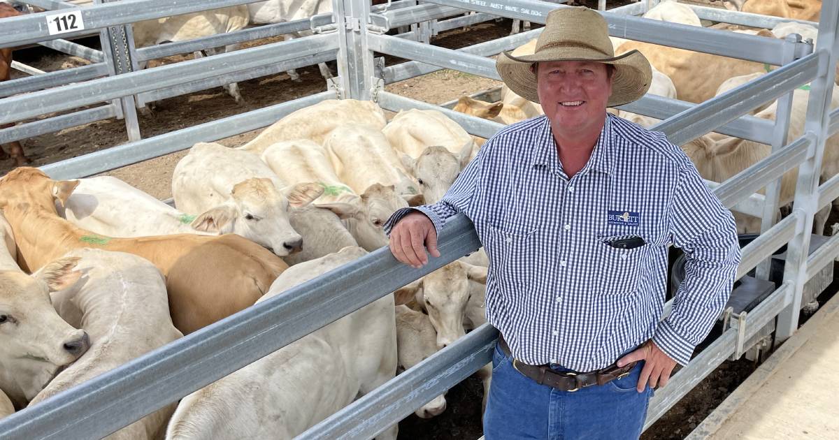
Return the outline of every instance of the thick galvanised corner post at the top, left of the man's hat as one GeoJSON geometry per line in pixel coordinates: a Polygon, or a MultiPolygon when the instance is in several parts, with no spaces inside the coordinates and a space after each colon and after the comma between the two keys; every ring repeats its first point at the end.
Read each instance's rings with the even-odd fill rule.
{"type": "Polygon", "coordinates": [[[369,100],[373,85],[373,52],[367,46],[369,0],[333,0],[338,27],[338,75],[341,98],[369,100]]]}

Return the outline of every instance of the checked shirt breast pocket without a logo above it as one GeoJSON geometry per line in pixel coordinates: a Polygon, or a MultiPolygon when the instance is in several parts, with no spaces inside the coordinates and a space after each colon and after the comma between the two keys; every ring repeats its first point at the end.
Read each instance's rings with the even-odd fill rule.
{"type": "Polygon", "coordinates": [[[490,272],[504,290],[514,292],[527,283],[536,251],[536,230],[486,226],[482,240],[489,257],[490,272]]]}

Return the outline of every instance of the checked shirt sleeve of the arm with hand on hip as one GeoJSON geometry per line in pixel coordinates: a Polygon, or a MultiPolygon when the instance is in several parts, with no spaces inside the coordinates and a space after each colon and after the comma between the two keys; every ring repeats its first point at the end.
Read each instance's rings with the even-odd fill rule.
{"type": "Polygon", "coordinates": [[[671,359],[686,365],[728,301],[740,264],[740,246],[731,211],[689,162],[680,173],[669,223],[673,245],[685,252],[685,279],[653,341],[671,359]]]}

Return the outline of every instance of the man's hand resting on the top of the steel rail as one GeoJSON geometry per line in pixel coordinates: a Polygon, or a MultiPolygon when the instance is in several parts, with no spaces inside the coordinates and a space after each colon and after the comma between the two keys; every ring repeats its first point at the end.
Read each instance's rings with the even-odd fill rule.
{"type": "Polygon", "coordinates": [[[390,252],[411,267],[419,269],[428,262],[426,246],[431,256],[440,256],[434,224],[419,211],[405,215],[390,231],[390,252]]]}

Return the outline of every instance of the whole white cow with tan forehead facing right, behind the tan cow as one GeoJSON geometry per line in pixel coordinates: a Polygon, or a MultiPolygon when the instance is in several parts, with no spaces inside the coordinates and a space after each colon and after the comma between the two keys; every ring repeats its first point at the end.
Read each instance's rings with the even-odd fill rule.
{"type": "Polygon", "coordinates": [[[233,232],[286,256],[302,237],[289,225],[289,206],[300,208],[323,193],[318,184],[282,182],[257,155],[217,143],[197,143],[175,166],[175,206],[199,214],[197,230],[233,232]]]}

